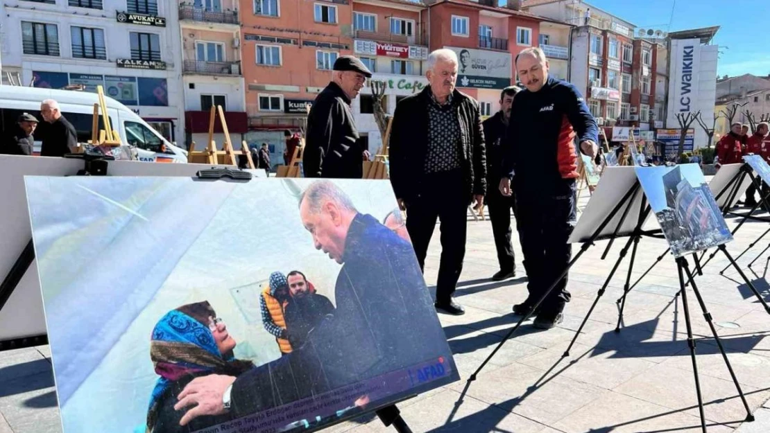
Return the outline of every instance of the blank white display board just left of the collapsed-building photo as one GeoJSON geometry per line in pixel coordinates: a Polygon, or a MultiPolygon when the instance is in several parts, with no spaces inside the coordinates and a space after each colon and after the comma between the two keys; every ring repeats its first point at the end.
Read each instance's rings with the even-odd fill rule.
{"type": "MultiPolygon", "coordinates": [[[[609,155],[609,154],[605,154],[609,155]]],[[[604,218],[612,212],[612,208],[621,201],[624,195],[630,190],[634,183],[636,183],[636,173],[633,167],[627,166],[609,166],[604,169],[604,173],[601,175],[599,185],[596,187],[594,194],[591,195],[591,199],[588,201],[588,205],[585,211],[580,215],[575,225],[572,235],[570,236],[570,243],[579,243],[588,241],[594,231],[601,225],[604,218]]],[[[628,211],[628,216],[623,221],[623,225],[618,230],[619,236],[628,236],[634,231],[637,225],[639,212],[641,210],[641,200],[643,195],[641,191],[634,197],[631,202],[631,210],[628,211]]],[[[618,212],[608,225],[604,227],[604,230],[598,236],[598,239],[609,238],[614,234],[615,228],[618,227],[618,223],[621,221],[621,215],[623,209],[618,212]]]]}

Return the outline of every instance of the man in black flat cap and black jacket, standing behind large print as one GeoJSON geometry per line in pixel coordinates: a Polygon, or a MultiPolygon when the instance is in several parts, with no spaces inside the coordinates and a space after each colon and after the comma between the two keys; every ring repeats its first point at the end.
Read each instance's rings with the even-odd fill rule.
{"type": "Polygon", "coordinates": [[[363,157],[369,152],[357,142],[359,135],[350,112],[372,72],[352,55],[334,62],[332,82],[316,96],[307,116],[302,156],[306,178],[363,178],[363,157]]]}

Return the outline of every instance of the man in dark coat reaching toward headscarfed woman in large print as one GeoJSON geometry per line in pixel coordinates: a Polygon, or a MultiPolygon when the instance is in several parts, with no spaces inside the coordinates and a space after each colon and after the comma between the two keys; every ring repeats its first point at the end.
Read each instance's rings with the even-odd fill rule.
{"type": "Polygon", "coordinates": [[[305,345],[276,361],[237,378],[209,375],[191,381],[175,406],[187,411],[182,425],[228,411],[234,418],[250,415],[394,371],[403,376],[387,384],[389,390],[417,386],[408,385],[402,370],[431,359],[443,358],[455,374],[409,242],[358,212],[326,180],[306,188],[300,218],[315,248],[342,265],[333,316],[310,331],[305,345]]]}

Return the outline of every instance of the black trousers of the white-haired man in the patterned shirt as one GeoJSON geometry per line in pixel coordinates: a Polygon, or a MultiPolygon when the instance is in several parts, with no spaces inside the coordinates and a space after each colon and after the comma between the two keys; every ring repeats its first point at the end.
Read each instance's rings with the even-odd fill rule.
{"type": "Polygon", "coordinates": [[[423,272],[436,220],[441,222],[441,262],[436,283],[436,301],[440,304],[450,301],[463,271],[470,204],[470,193],[464,193],[469,188],[464,184],[460,170],[428,175],[424,193],[407,203],[407,231],[423,272]]]}

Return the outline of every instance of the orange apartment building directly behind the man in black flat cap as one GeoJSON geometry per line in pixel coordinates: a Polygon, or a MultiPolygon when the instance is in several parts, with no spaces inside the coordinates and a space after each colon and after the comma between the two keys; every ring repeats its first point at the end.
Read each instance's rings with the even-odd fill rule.
{"type": "Polygon", "coordinates": [[[306,107],[329,84],[340,55],[353,54],[350,0],[241,0],[240,49],[249,145],[282,161],[283,130],[299,131],[306,107]]]}

